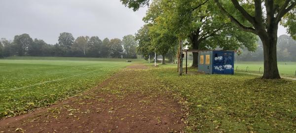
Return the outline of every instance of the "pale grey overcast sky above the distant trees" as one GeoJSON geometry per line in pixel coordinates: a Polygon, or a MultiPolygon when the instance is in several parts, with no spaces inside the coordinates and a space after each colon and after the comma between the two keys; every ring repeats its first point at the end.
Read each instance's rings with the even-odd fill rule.
{"type": "MultiPolygon", "coordinates": [[[[0,38],[28,33],[54,44],[59,33],[122,38],[144,25],[147,8],[133,12],[119,0],[0,0],[0,38]]],[[[278,35],[286,34],[283,27],[278,35]]]]}

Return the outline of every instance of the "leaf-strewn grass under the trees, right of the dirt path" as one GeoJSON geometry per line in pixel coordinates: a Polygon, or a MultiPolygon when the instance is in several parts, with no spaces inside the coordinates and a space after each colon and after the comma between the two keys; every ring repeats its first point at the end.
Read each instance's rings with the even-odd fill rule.
{"type": "Polygon", "coordinates": [[[167,89],[186,100],[187,132],[296,132],[296,81],[242,73],[178,76],[173,65],[153,71],[167,89]]]}

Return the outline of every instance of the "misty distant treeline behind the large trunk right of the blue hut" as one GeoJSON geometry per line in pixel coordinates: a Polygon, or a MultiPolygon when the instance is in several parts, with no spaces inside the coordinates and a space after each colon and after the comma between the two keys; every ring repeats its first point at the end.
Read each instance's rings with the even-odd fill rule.
{"type": "MultiPolygon", "coordinates": [[[[248,51],[247,48],[241,50],[237,56],[237,61],[263,61],[263,45],[258,41],[255,52],[248,51]]],[[[289,35],[283,34],[277,40],[277,61],[296,62],[296,41],[289,35]]]]}

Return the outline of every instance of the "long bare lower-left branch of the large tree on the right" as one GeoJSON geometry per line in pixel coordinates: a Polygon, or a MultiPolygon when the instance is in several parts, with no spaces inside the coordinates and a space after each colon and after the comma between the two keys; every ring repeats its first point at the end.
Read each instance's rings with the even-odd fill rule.
{"type": "Polygon", "coordinates": [[[246,27],[244,25],[242,25],[240,22],[238,22],[230,13],[228,13],[221,5],[221,3],[219,2],[219,0],[215,0],[215,2],[217,3],[219,9],[222,11],[222,13],[224,13],[235,25],[238,26],[238,28],[240,28],[241,30],[245,31],[245,32],[250,32],[250,33],[254,33],[254,34],[258,34],[257,31],[252,28],[252,27],[246,27]]]}

